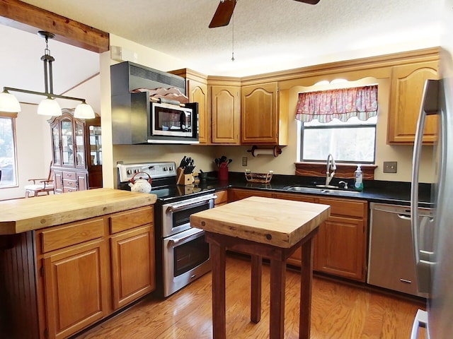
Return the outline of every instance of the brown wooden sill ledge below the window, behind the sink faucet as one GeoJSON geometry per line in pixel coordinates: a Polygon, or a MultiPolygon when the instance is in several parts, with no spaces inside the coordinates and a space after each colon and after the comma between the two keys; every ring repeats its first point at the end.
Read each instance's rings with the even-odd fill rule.
{"type": "MultiPolygon", "coordinates": [[[[304,177],[325,177],[326,162],[294,162],[296,165],[296,175],[304,177]]],[[[354,172],[357,164],[336,163],[335,177],[342,179],[354,179],[354,172]]],[[[377,165],[360,165],[362,177],[365,180],[374,180],[374,169],[377,165]]]]}

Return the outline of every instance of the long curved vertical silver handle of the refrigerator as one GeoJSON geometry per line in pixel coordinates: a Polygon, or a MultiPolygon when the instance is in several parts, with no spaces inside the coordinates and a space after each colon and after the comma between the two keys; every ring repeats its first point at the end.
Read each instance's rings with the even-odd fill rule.
{"type": "MultiPolygon", "coordinates": [[[[432,90],[438,85],[435,80],[427,80],[423,89],[423,97],[426,97],[428,90],[432,90]]],[[[432,112],[430,112],[432,113],[432,112]]],[[[418,244],[418,173],[420,169],[420,153],[423,141],[423,129],[425,128],[427,112],[425,105],[421,105],[420,114],[418,115],[417,129],[415,130],[415,142],[413,146],[413,170],[411,179],[411,226],[413,251],[415,256],[415,270],[417,273],[417,283],[419,292],[430,292],[431,290],[431,266],[434,264],[429,261],[425,253],[422,254],[423,260],[420,260],[420,246],[418,244]]]]}

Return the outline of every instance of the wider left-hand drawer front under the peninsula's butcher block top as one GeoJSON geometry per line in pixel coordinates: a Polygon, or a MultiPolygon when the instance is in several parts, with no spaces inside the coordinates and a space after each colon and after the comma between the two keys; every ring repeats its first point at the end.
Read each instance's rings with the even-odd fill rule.
{"type": "Polygon", "coordinates": [[[41,233],[42,253],[104,236],[103,218],[71,222],[41,233]]]}

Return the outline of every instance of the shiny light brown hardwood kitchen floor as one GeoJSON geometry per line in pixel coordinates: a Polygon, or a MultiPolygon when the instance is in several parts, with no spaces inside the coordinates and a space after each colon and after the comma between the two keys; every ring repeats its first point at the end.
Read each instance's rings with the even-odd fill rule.
{"type": "MultiPolygon", "coordinates": [[[[226,261],[226,336],[269,338],[269,266],[263,266],[262,316],[250,321],[250,265],[236,256],[226,261]]],[[[299,273],[287,271],[285,338],[299,338],[299,273]]],[[[211,273],[167,299],[148,297],[74,338],[212,338],[211,273]]],[[[420,303],[314,278],[312,339],[408,339],[420,303]]],[[[421,338],[424,338],[422,333],[421,338]]]]}

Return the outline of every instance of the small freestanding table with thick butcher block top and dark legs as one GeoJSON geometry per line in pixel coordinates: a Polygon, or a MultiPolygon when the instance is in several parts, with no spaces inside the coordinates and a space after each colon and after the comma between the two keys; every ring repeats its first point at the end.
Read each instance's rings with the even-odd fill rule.
{"type": "Polygon", "coordinates": [[[252,196],[190,216],[206,232],[212,260],[212,332],[226,338],[225,251],[251,254],[251,321],[260,321],[261,263],[270,259],[270,339],[282,339],[286,259],[302,246],[299,338],[310,337],[313,238],[330,206],[252,196]]]}

